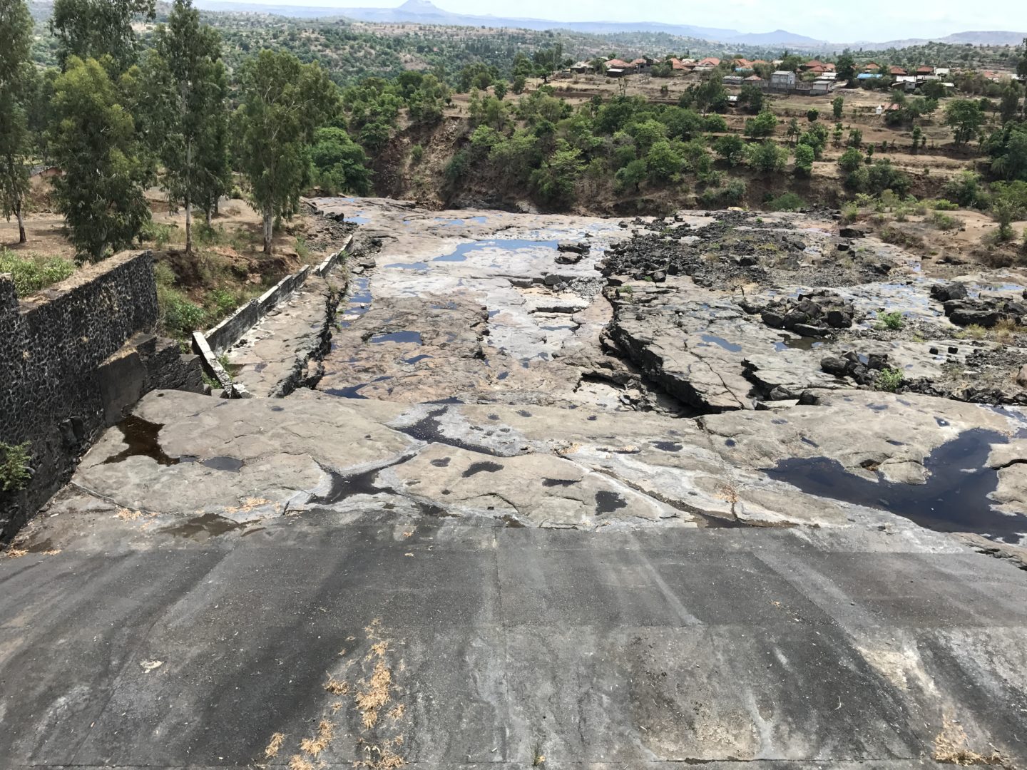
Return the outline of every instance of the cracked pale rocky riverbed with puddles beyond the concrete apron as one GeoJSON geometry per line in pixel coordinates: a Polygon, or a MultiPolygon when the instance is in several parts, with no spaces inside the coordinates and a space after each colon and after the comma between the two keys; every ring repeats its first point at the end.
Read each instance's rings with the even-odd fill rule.
{"type": "Polygon", "coordinates": [[[1016,313],[1015,274],[935,280],[914,254],[802,215],[312,204],[359,225],[348,277],[298,295],[229,354],[252,392],[307,387],[150,396],[137,410],[149,444],[110,431],[63,505],[107,500],[155,526],[316,514],[915,522],[1007,545],[1027,533],[1027,338],[1019,316],[1002,337],[951,318],[953,301],[1016,313]],[[269,387],[269,372],[293,386],[269,387]]]}

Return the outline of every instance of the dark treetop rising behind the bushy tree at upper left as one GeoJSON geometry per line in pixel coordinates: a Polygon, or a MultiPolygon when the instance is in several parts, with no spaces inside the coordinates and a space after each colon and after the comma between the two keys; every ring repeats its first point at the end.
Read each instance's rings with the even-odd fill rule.
{"type": "Polygon", "coordinates": [[[54,0],[50,31],[58,40],[58,61],[67,69],[68,59],[109,55],[117,72],[124,72],[139,56],[132,18],[153,18],[155,0],[54,0]]]}

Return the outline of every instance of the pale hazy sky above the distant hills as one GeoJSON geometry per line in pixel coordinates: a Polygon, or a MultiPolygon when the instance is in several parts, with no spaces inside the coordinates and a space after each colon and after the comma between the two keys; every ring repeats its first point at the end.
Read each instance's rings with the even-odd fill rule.
{"type": "MultiPolygon", "coordinates": [[[[273,4],[344,7],[394,7],[402,0],[249,0],[273,4]]],[[[893,40],[941,37],[966,30],[1027,30],[1024,0],[727,0],[726,2],[640,2],[621,0],[435,0],[439,7],[476,15],[551,18],[560,22],[646,21],[769,32],[785,29],[819,40],[893,40]]]]}

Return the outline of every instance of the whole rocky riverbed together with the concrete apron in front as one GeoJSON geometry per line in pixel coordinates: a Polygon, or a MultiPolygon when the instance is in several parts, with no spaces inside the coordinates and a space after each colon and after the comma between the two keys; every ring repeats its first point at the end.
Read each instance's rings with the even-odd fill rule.
{"type": "Polygon", "coordinates": [[[1023,275],[312,205],[256,397],[146,396],[0,561],[9,766],[1027,763],[1023,275]]]}

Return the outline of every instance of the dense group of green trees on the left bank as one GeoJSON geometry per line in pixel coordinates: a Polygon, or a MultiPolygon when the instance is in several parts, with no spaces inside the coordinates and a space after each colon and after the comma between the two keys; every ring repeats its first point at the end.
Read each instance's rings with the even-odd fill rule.
{"type": "Polygon", "coordinates": [[[210,222],[233,171],[270,252],[275,223],[311,184],[370,191],[350,131],[374,148],[401,109],[414,120],[442,115],[446,88],[430,75],[342,91],[320,66],[264,49],[230,76],[220,35],[190,0],[175,0],[143,49],[132,21],[154,13],[154,0],[56,0],[58,66],[40,70],[27,5],[0,0],[0,214],[18,221],[23,242],[30,169],[46,163],[60,169],[52,197],[81,260],[131,244],[150,220],[145,191],[158,181],[172,209],[185,211],[191,249],[194,213],[210,222]]]}

